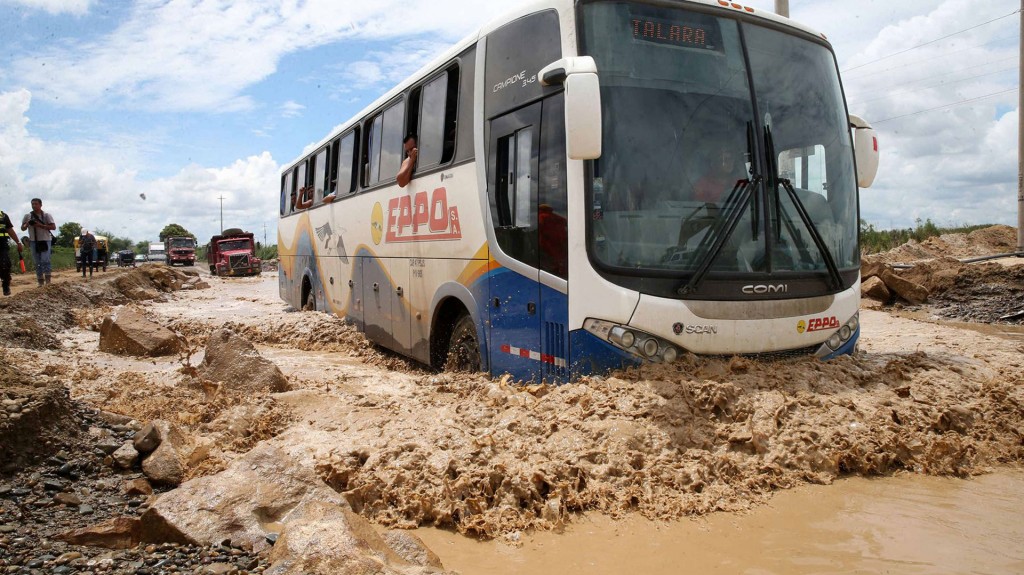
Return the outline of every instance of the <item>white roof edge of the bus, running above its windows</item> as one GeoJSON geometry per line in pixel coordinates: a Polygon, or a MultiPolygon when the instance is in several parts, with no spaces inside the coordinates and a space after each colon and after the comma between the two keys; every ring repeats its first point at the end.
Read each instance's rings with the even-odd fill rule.
{"type": "MultiPolygon", "coordinates": [[[[722,8],[732,9],[733,11],[742,13],[746,16],[756,16],[762,19],[773,21],[778,25],[799,30],[805,34],[810,34],[811,36],[820,38],[825,43],[828,43],[828,39],[827,37],[825,37],[824,34],[821,34],[820,32],[812,28],[809,28],[800,23],[792,20],[785,16],[780,16],[774,12],[752,8],[750,6],[744,6],[737,2],[729,2],[727,0],[669,0],[669,1],[675,4],[679,4],[680,6],[702,4],[705,6],[712,6],[720,9],[722,8]]],[[[430,60],[428,63],[417,70],[415,73],[411,74],[409,77],[407,77],[400,83],[392,87],[390,90],[385,92],[377,99],[375,99],[369,105],[360,109],[358,113],[354,114],[351,118],[346,119],[341,124],[338,124],[337,126],[332,128],[331,131],[328,133],[328,135],[325,136],[323,139],[305,146],[302,149],[302,152],[299,153],[299,156],[297,156],[294,160],[285,165],[286,168],[282,170],[282,173],[284,174],[288,170],[291,170],[296,164],[304,160],[311,152],[323,147],[332,139],[337,137],[339,134],[345,132],[346,130],[354,126],[360,120],[369,116],[372,112],[381,107],[382,105],[390,101],[392,98],[403,92],[406,88],[419,82],[420,80],[430,75],[435,70],[438,70],[442,64],[450,61],[452,58],[461,54],[464,50],[474,45],[480,37],[490,34],[495,30],[501,28],[502,26],[505,26],[510,21],[513,21],[517,18],[520,18],[527,14],[531,14],[534,12],[544,9],[558,10],[559,13],[565,13],[566,11],[568,11],[569,14],[572,14],[572,9],[574,8],[575,4],[577,4],[575,0],[534,0],[531,2],[523,4],[522,6],[516,9],[510,10],[504,13],[503,15],[493,18],[490,21],[483,25],[475,32],[469,34],[462,40],[453,44],[452,47],[450,47],[443,53],[441,53],[434,59],[430,60]]],[[[572,18],[574,18],[574,15],[572,16],[572,18]]]]}

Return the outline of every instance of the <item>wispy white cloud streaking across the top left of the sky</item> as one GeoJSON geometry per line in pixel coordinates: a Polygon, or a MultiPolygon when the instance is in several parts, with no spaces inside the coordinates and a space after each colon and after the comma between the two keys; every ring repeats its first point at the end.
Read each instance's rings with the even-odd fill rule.
{"type": "MultiPolygon", "coordinates": [[[[146,110],[237,112],[255,105],[245,90],[286,54],[343,39],[410,35],[440,36],[446,45],[498,10],[471,0],[139,0],[108,36],[20,55],[11,68],[38,96],[76,107],[120,102],[146,110]]],[[[420,52],[413,47],[403,55],[415,59],[420,52]]],[[[395,69],[401,67],[388,65],[385,77],[395,69]]]]}

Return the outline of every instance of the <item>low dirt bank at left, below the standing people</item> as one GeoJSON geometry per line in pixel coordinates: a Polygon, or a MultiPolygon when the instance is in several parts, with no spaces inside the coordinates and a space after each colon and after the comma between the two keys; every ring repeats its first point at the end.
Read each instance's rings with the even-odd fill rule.
{"type": "Polygon", "coordinates": [[[0,300],[0,333],[8,347],[59,349],[56,331],[75,325],[82,311],[156,299],[180,290],[195,275],[143,266],[88,282],[50,283],[14,294],[0,300]]]}

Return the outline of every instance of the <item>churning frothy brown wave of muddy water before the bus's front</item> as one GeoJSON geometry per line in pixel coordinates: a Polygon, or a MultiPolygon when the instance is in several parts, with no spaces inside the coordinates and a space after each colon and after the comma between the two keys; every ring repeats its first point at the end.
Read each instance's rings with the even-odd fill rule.
{"type": "Polygon", "coordinates": [[[1020,461],[1016,371],[994,380],[981,365],[919,353],[690,357],[562,387],[430,375],[415,401],[373,405],[389,415],[362,422],[373,433],[316,469],[373,521],[484,537],[556,527],[581,511],[663,520],[736,511],[845,474],[968,476],[1020,461]],[[948,377],[935,382],[936,370],[948,377]]]}

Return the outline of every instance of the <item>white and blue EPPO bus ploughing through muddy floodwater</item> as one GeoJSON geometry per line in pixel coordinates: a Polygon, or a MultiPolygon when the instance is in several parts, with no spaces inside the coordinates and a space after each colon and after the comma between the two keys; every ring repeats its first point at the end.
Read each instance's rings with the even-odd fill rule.
{"type": "Polygon", "coordinates": [[[849,354],[878,156],[813,30],[720,0],[543,0],[284,169],[281,297],[518,381],[849,354]]]}

